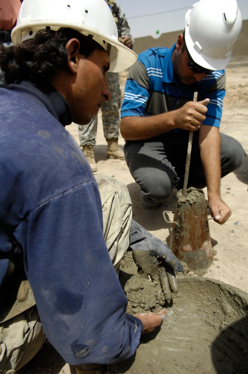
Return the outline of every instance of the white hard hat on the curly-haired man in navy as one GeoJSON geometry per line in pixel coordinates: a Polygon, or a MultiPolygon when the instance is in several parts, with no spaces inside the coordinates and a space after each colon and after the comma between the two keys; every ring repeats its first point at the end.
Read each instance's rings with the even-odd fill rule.
{"type": "Polygon", "coordinates": [[[137,60],[135,52],[118,42],[116,23],[105,0],[24,0],[11,33],[12,42],[22,43],[48,26],[55,31],[69,27],[93,35],[106,51],[111,45],[109,71],[114,73],[137,60]]]}

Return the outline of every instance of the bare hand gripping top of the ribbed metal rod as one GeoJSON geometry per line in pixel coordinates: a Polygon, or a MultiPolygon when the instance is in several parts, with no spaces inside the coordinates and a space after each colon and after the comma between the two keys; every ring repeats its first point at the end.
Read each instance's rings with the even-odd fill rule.
{"type": "Polygon", "coordinates": [[[196,131],[206,119],[207,105],[210,99],[193,102],[188,101],[182,108],[174,111],[175,127],[184,130],[196,131]]]}

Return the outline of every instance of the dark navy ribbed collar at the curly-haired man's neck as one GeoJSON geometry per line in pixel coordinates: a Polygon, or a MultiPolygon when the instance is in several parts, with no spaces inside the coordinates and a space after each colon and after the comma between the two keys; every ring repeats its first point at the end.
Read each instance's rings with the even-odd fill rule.
{"type": "Polygon", "coordinates": [[[64,127],[72,122],[71,108],[64,96],[50,83],[37,87],[29,81],[15,82],[9,85],[10,91],[16,91],[45,108],[64,127]]]}

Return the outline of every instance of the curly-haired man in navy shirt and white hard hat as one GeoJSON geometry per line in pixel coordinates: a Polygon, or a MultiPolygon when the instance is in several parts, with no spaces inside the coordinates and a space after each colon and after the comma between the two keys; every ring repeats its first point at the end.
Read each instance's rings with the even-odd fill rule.
{"type": "Polygon", "coordinates": [[[126,313],[117,274],[128,246],[137,264],[147,255],[163,285],[167,270],[182,271],[131,220],[125,185],[95,179],[65,130],[89,123],[111,98],[106,71],[137,56],[118,42],[104,0],[24,0],[12,41],[0,47],[9,84],[0,89],[0,374],[19,370],[46,336],[77,373],[102,374],[165,318],[165,309],[126,313]]]}

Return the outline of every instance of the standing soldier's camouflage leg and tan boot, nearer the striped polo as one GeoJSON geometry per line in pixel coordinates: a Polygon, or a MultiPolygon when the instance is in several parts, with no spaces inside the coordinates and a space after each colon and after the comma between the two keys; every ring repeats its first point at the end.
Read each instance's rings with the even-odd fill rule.
{"type": "Polygon", "coordinates": [[[121,92],[118,73],[107,73],[106,80],[111,92],[111,100],[104,101],[102,105],[102,123],[103,133],[108,143],[108,158],[116,158],[124,160],[123,150],[118,145],[121,92]]]}

